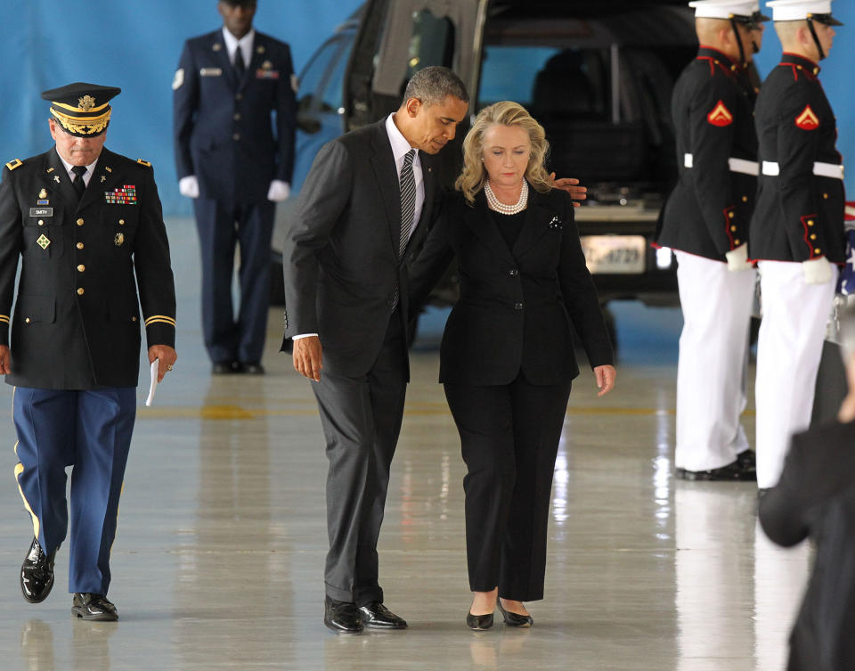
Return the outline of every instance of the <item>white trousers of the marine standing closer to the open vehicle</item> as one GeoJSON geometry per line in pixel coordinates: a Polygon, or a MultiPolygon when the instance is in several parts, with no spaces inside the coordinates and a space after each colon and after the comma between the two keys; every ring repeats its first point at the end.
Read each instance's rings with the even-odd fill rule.
{"type": "Polygon", "coordinates": [[[676,251],[683,311],[677,365],[677,448],[687,471],[721,468],[748,449],[745,365],[755,272],[676,251]]]}

